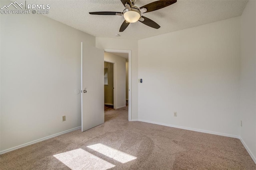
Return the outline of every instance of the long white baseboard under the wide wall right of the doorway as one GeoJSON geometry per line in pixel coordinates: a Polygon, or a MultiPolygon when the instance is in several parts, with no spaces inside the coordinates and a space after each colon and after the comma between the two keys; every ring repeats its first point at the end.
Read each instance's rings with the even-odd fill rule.
{"type": "Polygon", "coordinates": [[[165,124],[165,123],[158,123],[158,122],[152,122],[152,121],[145,121],[145,120],[141,120],[141,119],[138,119],[138,121],[140,121],[140,122],[146,122],[146,123],[153,123],[153,124],[157,124],[157,125],[163,125],[163,126],[167,126],[167,127],[181,128],[181,129],[185,129],[185,130],[192,130],[192,131],[196,131],[196,132],[203,132],[203,133],[209,133],[209,134],[216,134],[216,135],[220,135],[220,136],[227,136],[227,137],[231,137],[231,138],[238,138],[238,139],[240,139],[240,136],[236,136],[236,135],[233,135],[233,134],[226,134],[226,133],[220,133],[220,132],[212,132],[212,131],[201,130],[201,129],[196,129],[196,128],[181,127],[181,126],[169,125],[169,124],[165,124]]]}

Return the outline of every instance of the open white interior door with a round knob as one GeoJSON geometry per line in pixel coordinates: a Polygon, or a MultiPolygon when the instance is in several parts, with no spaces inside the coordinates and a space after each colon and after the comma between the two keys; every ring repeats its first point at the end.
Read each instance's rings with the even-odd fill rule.
{"type": "Polygon", "coordinates": [[[82,132],[104,123],[104,50],[81,43],[82,132]]]}

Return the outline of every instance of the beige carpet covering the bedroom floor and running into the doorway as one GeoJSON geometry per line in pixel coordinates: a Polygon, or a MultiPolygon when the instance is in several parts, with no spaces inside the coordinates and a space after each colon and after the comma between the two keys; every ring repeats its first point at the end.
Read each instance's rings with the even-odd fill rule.
{"type": "Polygon", "coordinates": [[[0,169],[256,170],[239,139],[128,122],[127,109],[106,112],[105,123],[86,132],[3,154],[0,169]]]}

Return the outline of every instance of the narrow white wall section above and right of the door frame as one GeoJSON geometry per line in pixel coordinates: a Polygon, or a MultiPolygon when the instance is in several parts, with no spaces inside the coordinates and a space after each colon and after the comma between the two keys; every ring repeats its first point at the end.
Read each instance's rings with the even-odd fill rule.
{"type": "Polygon", "coordinates": [[[132,50],[132,120],[138,119],[138,40],[96,37],[96,47],[100,49],[132,50]]]}

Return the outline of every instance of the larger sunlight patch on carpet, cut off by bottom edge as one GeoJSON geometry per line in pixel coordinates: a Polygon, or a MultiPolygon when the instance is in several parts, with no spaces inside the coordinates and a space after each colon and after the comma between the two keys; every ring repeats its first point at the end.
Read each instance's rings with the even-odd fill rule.
{"type": "Polygon", "coordinates": [[[81,148],[56,154],[54,157],[72,170],[107,170],[115,167],[115,165],[81,148]]]}

